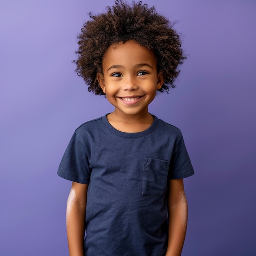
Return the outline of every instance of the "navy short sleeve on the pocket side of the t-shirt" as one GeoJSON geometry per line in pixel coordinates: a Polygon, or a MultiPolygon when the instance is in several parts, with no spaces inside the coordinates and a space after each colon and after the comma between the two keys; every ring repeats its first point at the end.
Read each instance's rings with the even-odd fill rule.
{"type": "Polygon", "coordinates": [[[169,167],[169,178],[183,179],[193,174],[193,166],[186,150],[183,137],[181,137],[181,139],[175,143],[173,148],[173,155],[169,167]]]}

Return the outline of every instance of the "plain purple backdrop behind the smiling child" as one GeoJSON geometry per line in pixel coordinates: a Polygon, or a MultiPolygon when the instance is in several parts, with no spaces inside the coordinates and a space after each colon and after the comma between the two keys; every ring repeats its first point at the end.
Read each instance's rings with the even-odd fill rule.
{"type": "MultiPolygon", "coordinates": [[[[68,255],[58,164],[77,126],[112,111],[71,61],[87,13],[113,2],[0,2],[1,256],[68,255]]],[[[147,2],[179,20],[188,54],[177,88],[150,104],[182,130],[195,168],[182,255],[256,255],[256,2],[147,2]]]]}

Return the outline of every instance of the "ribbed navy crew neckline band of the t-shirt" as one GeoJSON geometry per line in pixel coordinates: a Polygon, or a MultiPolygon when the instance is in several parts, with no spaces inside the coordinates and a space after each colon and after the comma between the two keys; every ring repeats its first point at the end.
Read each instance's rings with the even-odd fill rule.
{"type": "MultiPolygon", "coordinates": [[[[154,121],[151,124],[151,126],[149,126],[146,130],[142,131],[142,132],[121,132],[117,129],[115,129],[109,122],[107,119],[107,115],[101,117],[101,120],[104,124],[104,126],[106,126],[106,128],[113,134],[119,136],[119,137],[124,137],[124,138],[131,138],[131,139],[135,139],[135,138],[141,138],[141,137],[145,137],[148,134],[150,134],[151,132],[153,132],[155,130],[155,128],[157,128],[158,124],[159,124],[159,119],[157,117],[155,117],[154,115],[152,115],[154,117],[154,121]]],[[[151,115],[151,114],[150,114],[151,115]]]]}

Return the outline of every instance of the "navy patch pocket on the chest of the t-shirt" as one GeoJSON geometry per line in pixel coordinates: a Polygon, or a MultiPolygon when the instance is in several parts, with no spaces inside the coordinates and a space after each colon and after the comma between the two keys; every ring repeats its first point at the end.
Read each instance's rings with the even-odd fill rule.
{"type": "Polygon", "coordinates": [[[163,195],[166,189],[169,162],[144,158],[142,195],[163,195]]]}

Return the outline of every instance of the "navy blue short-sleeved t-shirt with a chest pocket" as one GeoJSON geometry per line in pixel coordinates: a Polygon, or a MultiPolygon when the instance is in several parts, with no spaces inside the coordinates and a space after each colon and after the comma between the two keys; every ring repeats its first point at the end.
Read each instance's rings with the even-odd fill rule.
{"type": "Polygon", "coordinates": [[[164,256],[169,179],[194,174],[182,134],[154,116],[142,132],[107,117],[79,126],[58,175],[88,185],[85,255],[164,256]]]}

